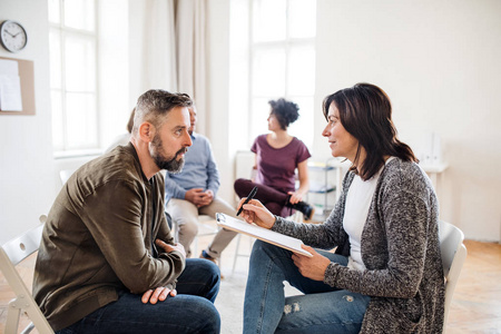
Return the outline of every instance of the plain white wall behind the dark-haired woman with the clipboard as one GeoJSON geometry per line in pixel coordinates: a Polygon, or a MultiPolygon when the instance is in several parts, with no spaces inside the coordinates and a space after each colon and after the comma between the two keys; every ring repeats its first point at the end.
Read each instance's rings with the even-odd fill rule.
{"type": "Polygon", "coordinates": [[[390,96],[400,137],[414,148],[441,135],[449,163],[441,218],[468,238],[500,240],[501,1],[318,0],[316,132],[321,101],[367,81],[390,96]]]}

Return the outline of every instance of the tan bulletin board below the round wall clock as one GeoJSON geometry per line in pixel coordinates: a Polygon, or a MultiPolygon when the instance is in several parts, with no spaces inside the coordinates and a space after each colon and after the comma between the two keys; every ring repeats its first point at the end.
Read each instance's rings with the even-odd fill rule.
{"type": "MultiPolygon", "coordinates": [[[[33,61],[0,57],[0,61],[2,61],[2,60],[14,60],[18,62],[22,109],[17,110],[17,111],[3,110],[3,108],[1,108],[1,106],[0,106],[0,109],[1,109],[0,116],[1,115],[35,115],[33,61]]],[[[0,72],[0,75],[2,75],[2,73],[0,72]]],[[[1,104],[1,101],[0,101],[0,104],[1,104]]]]}

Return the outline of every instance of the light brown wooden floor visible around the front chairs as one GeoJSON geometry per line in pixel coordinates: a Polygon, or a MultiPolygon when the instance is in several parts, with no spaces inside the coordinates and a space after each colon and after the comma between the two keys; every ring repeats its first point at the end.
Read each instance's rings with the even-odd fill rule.
{"type": "MultiPolygon", "coordinates": [[[[501,333],[501,245],[471,240],[464,244],[468,257],[454,292],[445,333],[501,333]]],[[[233,252],[227,250],[227,256],[233,257],[233,252]]],[[[224,261],[229,265],[233,258],[224,261]]],[[[19,266],[23,279],[28,282],[32,277],[33,262],[30,258],[19,266]]],[[[3,333],[7,304],[12,297],[0,274],[0,334],[3,333]]],[[[26,316],[22,321],[27,323],[26,316]]]]}

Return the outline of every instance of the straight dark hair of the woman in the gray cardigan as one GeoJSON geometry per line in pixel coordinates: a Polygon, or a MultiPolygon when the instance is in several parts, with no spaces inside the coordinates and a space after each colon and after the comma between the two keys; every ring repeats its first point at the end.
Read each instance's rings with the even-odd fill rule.
{"type": "Polygon", "coordinates": [[[371,84],[356,84],[330,95],[322,107],[325,119],[332,104],[340,111],[343,127],[358,140],[355,160],[350,170],[357,173],[362,179],[367,180],[380,170],[384,165],[384,156],[419,161],[411,147],[396,138],[392,105],[384,90],[371,84]],[[362,166],[357,166],[361,146],[366,151],[366,158],[362,166]]]}

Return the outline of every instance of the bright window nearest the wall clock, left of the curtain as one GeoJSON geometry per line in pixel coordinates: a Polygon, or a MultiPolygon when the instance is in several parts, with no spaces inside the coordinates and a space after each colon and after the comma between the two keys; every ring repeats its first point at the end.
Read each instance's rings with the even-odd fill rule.
{"type": "Polygon", "coordinates": [[[55,151],[99,147],[96,0],[48,0],[55,151]]]}

